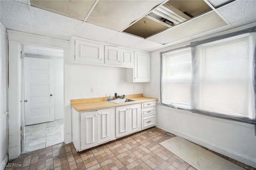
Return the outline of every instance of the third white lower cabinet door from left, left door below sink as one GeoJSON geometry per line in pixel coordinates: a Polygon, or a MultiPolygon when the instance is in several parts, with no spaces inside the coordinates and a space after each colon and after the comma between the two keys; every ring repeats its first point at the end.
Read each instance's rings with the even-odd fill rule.
{"type": "Polygon", "coordinates": [[[130,133],[128,127],[129,107],[116,107],[116,137],[124,136],[130,133]]]}

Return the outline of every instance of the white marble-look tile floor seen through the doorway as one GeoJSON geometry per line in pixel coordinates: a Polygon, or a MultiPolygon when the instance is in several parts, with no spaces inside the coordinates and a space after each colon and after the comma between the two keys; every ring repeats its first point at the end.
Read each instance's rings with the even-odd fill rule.
{"type": "Polygon", "coordinates": [[[25,126],[24,152],[62,143],[64,134],[63,119],[25,126]]]}

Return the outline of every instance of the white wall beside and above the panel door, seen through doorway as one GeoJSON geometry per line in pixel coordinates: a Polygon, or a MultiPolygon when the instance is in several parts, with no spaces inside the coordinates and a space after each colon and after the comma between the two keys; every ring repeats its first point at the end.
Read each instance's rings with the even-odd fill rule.
{"type": "Polygon", "coordinates": [[[64,117],[64,82],[63,82],[63,58],[26,55],[25,57],[45,58],[53,60],[54,67],[54,120],[64,117]]]}

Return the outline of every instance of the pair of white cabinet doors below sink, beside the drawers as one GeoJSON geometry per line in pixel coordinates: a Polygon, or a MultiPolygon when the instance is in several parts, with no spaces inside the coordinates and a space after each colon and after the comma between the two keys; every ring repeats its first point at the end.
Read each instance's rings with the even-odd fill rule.
{"type": "Polygon", "coordinates": [[[141,105],[116,107],[116,137],[141,129],[141,105]]]}

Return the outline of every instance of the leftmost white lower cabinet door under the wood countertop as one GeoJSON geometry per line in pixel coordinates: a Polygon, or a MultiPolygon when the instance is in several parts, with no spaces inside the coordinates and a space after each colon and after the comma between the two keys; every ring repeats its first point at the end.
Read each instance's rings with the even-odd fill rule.
{"type": "Polygon", "coordinates": [[[98,145],[98,112],[81,113],[81,150],[98,145]]]}

